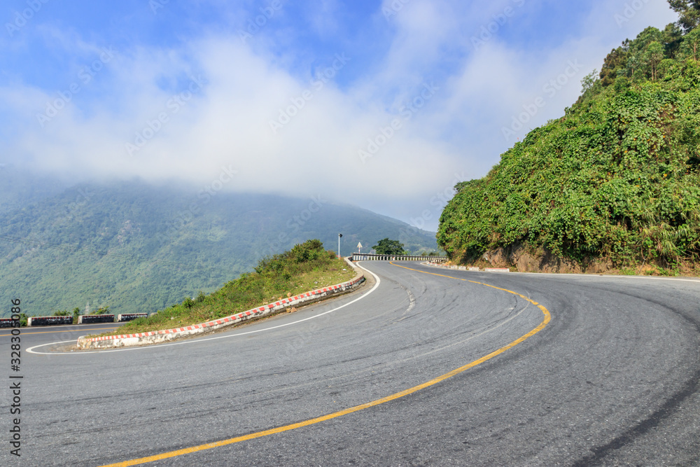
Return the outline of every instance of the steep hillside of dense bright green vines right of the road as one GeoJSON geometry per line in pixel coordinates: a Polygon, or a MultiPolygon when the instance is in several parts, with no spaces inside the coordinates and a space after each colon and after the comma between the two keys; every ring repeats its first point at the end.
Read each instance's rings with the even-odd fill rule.
{"type": "Polygon", "coordinates": [[[521,244],[617,267],[697,265],[698,38],[699,29],[647,28],[612,50],[565,116],[455,187],[440,246],[456,260],[521,244]]]}

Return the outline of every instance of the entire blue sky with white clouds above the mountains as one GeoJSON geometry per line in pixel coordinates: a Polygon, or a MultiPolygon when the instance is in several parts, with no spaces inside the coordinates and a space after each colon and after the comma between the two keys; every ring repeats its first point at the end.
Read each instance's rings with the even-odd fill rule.
{"type": "Polygon", "coordinates": [[[435,230],[456,181],[675,19],[664,0],[7,0],[0,162],[195,187],[235,172],[222,190],[435,230]]]}

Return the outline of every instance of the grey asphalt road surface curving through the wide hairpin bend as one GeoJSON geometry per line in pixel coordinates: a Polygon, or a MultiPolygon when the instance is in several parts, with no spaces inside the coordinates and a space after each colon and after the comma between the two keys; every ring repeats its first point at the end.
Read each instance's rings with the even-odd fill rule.
{"type": "MultiPolygon", "coordinates": [[[[360,300],[175,345],[29,354],[77,334],[27,330],[22,456],[6,442],[6,390],[0,464],[101,466],[231,440],[400,393],[501,349],[363,410],[146,465],[700,465],[700,281],[401,265],[413,270],[365,263],[381,283],[360,300]],[[504,350],[542,326],[533,302],[551,321],[504,350]]],[[[5,378],[9,346],[0,336],[5,378]]]]}

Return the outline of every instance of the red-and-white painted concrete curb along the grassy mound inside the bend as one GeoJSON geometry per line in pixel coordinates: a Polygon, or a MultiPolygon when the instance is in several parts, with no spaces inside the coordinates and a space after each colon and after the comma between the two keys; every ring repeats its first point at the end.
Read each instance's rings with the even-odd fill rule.
{"type": "MultiPolygon", "coordinates": [[[[357,270],[356,266],[352,265],[352,263],[350,263],[349,261],[348,264],[353,267],[353,270],[357,270]]],[[[168,342],[171,340],[181,339],[182,337],[193,337],[198,334],[204,334],[207,332],[211,332],[212,330],[225,328],[227,326],[232,326],[237,323],[242,323],[243,321],[248,321],[253,318],[259,318],[260,316],[274,314],[288,307],[293,307],[296,305],[308,305],[311,302],[316,302],[318,300],[330,298],[332,295],[337,295],[339,293],[343,293],[357,288],[363,283],[364,280],[365,274],[363,274],[362,272],[358,272],[353,279],[343,282],[342,284],[318,288],[315,291],[309,291],[300,295],[295,295],[290,298],[285,298],[283,300],[279,300],[278,302],[270,303],[269,305],[251,308],[246,310],[245,312],[232,314],[231,316],[226,316],[225,318],[215,319],[214,321],[208,321],[207,323],[185,326],[183,328],[154,330],[148,333],[139,334],[107,335],[102,337],[90,338],[81,336],[78,337],[78,348],[109,349],[112,347],[130,347],[134,345],[160,344],[161,342],[168,342]]]]}

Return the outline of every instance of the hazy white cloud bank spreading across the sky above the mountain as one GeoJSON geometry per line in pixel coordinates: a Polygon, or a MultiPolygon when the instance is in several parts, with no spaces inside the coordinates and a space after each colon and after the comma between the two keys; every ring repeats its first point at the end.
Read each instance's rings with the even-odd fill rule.
{"type": "MultiPolygon", "coordinates": [[[[351,52],[337,50],[316,67],[321,76],[299,78],[286,69],[290,57],[260,49],[272,39],[259,37],[253,50],[237,33],[118,50],[91,83],[76,76],[71,99],[71,81],[56,90],[14,81],[0,88],[16,134],[5,152],[45,172],[195,186],[233,169],[227,190],[320,194],[435,229],[435,200],[445,196],[437,194],[483,176],[517,138],[561,116],[580,80],[622,39],[675,19],[665,1],[638,0],[643,8],[627,11],[618,27],[615,15],[631,2],[596,1],[579,19],[585,34],[554,47],[528,49],[499,34],[475,47],[494,15],[522,13],[527,3],[492,2],[484,12],[477,2],[397,1],[402,8],[386,19],[395,36],[385,60],[342,88],[337,78],[353,66],[351,52]],[[513,119],[533,105],[515,129],[513,119]]],[[[334,4],[325,2],[329,11],[334,4]]],[[[314,24],[326,34],[332,20],[318,13],[314,24]]],[[[104,52],[73,42],[88,64],[104,52]]]]}

